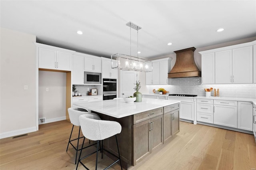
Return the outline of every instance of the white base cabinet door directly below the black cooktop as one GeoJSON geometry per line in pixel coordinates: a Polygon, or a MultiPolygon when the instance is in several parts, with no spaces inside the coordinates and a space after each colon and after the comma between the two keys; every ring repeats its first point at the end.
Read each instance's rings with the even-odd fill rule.
{"type": "Polygon", "coordinates": [[[194,103],[180,102],[180,119],[194,121],[194,103]]]}

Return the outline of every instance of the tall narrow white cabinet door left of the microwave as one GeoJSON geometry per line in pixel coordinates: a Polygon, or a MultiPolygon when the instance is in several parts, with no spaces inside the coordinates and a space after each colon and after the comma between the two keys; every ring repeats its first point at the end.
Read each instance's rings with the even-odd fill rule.
{"type": "Polygon", "coordinates": [[[84,57],[73,55],[72,84],[84,84],[84,57]]]}

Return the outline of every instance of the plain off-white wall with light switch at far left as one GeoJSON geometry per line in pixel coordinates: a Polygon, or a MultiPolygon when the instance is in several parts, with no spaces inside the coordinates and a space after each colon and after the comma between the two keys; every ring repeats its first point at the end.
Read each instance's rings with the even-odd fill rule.
{"type": "Polygon", "coordinates": [[[36,131],[36,36],[6,28],[0,34],[0,138],[5,138],[36,131]]]}

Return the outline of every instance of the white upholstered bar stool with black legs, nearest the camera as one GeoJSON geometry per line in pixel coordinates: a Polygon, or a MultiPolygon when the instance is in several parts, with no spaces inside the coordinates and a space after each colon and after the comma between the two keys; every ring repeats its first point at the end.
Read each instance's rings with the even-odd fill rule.
{"type": "MultiPolygon", "coordinates": [[[[121,132],[122,127],[118,122],[115,122],[115,121],[104,121],[104,120],[92,119],[92,115],[81,115],[81,116],[79,116],[79,121],[80,121],[80,126],[81,126],[82,133],[83,133],[84,137],[86,137],[90,140],[94,140],[94,141],[97,140],[98,142],[97,142],[97,150],[95,152],[92,152],[91,154],[88,154],[87,156],[84,156],[83,158],[81,158],[81,153],[82,153],[82,150],[81,150],[79,158],[78,158],[78,163],[76,165],[76,169],[78,168],[78,164],[80,162],[82,164],[82,166],[84,166],[84,168],[86,168],[88,170],[88,168],[81,162],[81,160],[96,153],[95,169],[97,170],[98,150],[99,150],[100,140],[102,140],[102,148],[101,148],[102,152],[101,153],[103,154],[103,150],[105,150],[103,148],[103,140],[106,138],[110,138],[111,136],[114,136],[114,135],[116,137],[116,134],[119,134],[121,132]]],[[[114,161],[112,164],[110,164],[108,167],[106,167],[104,170],[110,168],[110,166],[114,165],[118,161],[120,161],[120,166],[122,169],[117,137],[116,137],[116,145],[117,145],[117,150],[118,150],[118,156],[114,155],[113,153],[109,152],[108,150],[105,150],[105,151],[112,154],[113,156],[115,156],[118,159],[116,161],[114,161]]]]}

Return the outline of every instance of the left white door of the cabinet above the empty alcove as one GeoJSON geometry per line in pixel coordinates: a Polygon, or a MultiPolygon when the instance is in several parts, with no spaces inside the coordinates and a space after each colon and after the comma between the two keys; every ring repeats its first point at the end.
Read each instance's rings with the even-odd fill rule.
{"type": "Polygon", "coordinates": [[[56,69],[56,50],[39,47],[39,68],[56,69]]]}

